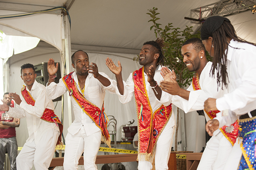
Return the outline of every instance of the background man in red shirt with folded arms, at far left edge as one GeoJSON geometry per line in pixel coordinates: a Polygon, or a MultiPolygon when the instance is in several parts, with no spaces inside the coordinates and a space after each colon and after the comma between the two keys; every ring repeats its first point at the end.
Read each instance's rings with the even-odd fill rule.
{"type": "MultiPolygon", "coordinates": [[[[9,107],[14,107],[14,103],[12,102],[12,98],[9,93],[4,93],[3,101],[9,107]]],[[[8,153],[11,170],[16,170],[18,145],[15,127],[19,127],[19,123],[19,119],[11,117],[4,111],[0,111],[0,170],[4,169],[5,153],[8,153]]]]}

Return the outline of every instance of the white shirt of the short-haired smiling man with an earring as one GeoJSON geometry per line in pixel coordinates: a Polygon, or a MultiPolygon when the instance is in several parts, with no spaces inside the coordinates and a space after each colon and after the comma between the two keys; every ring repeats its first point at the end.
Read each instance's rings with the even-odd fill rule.
{"type": "MultiPolygon", "coordinates": [[[[216,75],[215,77],[210,76],[211,66],[212,62],[208,62],[200,74],[199,85],[201,90],[194,91],[191,83],[187,89],[190,91],[189,99],[186,100],[175,95],[172,98],[172,104],[184,110],[185,113],[198,111],[204,109],[204,101],[206,101],[207,98],[219,98],[226,94],[226,88],[223,88],[223,90],[221,87],[218,88],[216,75]]],[[[206,117],[206,121],[211,120],[207,113],[204,112],[204,115],[206,117]]]]}

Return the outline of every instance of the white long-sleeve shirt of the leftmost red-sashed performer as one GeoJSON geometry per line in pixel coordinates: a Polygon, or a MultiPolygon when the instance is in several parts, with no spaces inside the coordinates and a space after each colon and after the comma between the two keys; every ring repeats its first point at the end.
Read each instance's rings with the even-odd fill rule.
{"type": "Polygon", "coordinates": [[[35,144],[37,144],[46,131],[50,129],[55,129],[57,131],[60,130],[55,123],[49,123],[40,119],[45,111],[45,108],[54,111],[54,105],[52,100],[49,100],[46,97],[45,86],[39,84],[35,80],[31,90],[29,90],[27,87],[26,89],[34,98],[35,105],[32,106],[30,104],[27,104],[26,100],[20,93],[20,99],[22,100],[22,102],[20,103],[20,105],[17,105],[17,108],[9,107],[9,111],[7,113],[12,117],[16,117],[19,119],[26,117],[27,129],[29,131],[29,138],[26,140],[26,142],[32,142],[33,140],[35,140],[35,144]]]}

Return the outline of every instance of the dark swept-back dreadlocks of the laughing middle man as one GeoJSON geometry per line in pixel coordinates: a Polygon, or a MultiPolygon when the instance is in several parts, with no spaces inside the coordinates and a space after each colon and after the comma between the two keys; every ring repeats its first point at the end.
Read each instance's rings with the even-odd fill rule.
{"type": "Polygon", "coordinates": [[[157,38],[157,40],[155,41],[147,41],[143,44],[144,45],[151,45],[154,48],[154,53],[155,54],[159,54],[159,57],[157,59],[157,65],[161,64],[162,66],[165,66],[164,64],[164,59],[165,59],[165,56],[164,56],[164,52],[163,52],[163,47],[165,47],[165,45],[163,44],[164,43],[164,40],[163,38],[157,38]]]}

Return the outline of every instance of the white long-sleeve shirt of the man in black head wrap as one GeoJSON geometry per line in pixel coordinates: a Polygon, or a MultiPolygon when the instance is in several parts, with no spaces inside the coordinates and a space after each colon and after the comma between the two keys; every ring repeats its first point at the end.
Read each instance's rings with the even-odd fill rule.
{"type": "Polygon", "coordinates": [[[229,116],[216,118],[221,125],[233,123],[239,115],[256,109],[256,46],[233,39],[227,51],[229,93],[216,100],[218,110],[229,110],[229,116]]]}

